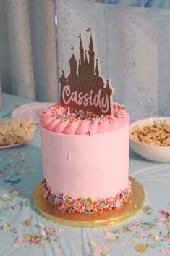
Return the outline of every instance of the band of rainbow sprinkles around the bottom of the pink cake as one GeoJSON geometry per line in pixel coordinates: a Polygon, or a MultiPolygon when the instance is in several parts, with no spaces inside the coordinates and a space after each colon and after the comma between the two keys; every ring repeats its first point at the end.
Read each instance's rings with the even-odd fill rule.
{"type": "Polygon", "coordinates": [[[93,198],[78,198],[74,199],[69,196],[69,194],[59,194],[58,197],[51,190],[51,186],[48,186],[46,183],[46,179],[43,179],[41,182],[43,185],[43,195],[46,198],[46,202],[48,204],[53,205],[56,209],[67,210],[67,212],[79,212],[90,214],[93,212],[105,212],[106,210],[113,210],[114,208],[120,207],[127,201],[129,198],[132,186],[131,182],[126,189],[122,189],[116,194],[116,197],[109,197],[106,199],[99,198],[93,200],[93,198]]]}

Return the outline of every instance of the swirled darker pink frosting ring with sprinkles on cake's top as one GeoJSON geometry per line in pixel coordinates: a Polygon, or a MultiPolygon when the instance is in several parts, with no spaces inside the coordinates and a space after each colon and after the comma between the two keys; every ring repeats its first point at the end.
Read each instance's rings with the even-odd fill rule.
{"type": "Polygon", "coordinates": [[[92,112],[72,110],[54,104],[41,113],[41,125],[43,128],[55,133],[64,134],[94,134],[114,131],[129,123],[129,115],[124,106],[115,103],[114,115],[95,115],[92,112]]]}

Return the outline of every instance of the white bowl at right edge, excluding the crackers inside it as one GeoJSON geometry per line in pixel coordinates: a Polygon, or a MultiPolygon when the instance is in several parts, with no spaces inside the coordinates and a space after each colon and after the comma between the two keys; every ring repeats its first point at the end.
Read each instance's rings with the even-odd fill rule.
{"type": "MultiPolygon", "coordinates": [[[[170,125],[170,117],[150,117],[131,123],[130,133],[135,125],[143,128],[146,125],[153,125],[153,122],[158,120],[166,120],[166,124],[170,125]]],[[[153,162],[170,162],[170,146],[151,146],[133,139],[130,139],[129,145],[134,152],[148,160],[153,162]]]]}

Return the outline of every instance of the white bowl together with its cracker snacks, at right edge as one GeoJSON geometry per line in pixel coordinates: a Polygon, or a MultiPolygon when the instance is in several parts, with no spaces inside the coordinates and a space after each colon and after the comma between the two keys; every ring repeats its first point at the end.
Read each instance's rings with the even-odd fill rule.
{"type": "Polygon", "coordinates": [[[151,117],[130,124],[130,148],[153,162],[170,162],[170,117],[151,117]]]}

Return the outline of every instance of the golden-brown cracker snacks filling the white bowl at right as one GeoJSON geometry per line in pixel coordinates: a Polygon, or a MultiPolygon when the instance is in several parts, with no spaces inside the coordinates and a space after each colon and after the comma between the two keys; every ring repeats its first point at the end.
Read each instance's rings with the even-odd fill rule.
{"type": "Polygon", "coordinates": [[[170,146],[170,125],[158,122],[140,128],[132,128],[130,139],[153,146],[170,146]]]}

